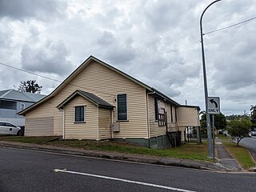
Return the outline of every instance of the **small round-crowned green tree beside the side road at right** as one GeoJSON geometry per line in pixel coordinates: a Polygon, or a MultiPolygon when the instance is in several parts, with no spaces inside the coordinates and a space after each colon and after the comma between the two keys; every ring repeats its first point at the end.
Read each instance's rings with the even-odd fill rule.
{"type": "Polygon", "coordinates": [[[252,123],[249,118],[235,118],[229,122],[227,130],[229,134],[236,139],[237,146],[242,138],[248,135],[251,125],[252,123]]]}

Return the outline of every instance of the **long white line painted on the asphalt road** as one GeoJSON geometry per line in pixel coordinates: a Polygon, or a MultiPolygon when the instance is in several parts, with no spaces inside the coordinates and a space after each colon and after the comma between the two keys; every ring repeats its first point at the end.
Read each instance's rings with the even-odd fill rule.
{"type": "Polygon", "coordinates": [[[86,174],[86,173],[75,172],[75,171],[70,171],[70,170],[54,169],[54,172],[56,172],[56,173],[62,172],[62,173],[68,173],[68,174],[80,174],[80,175],[85,175],[85,176],[94,177],[94,178],[105,178],[105,179],[115,180],[115,181],[119,181],[119,182],[134,183],[134,184],[138,184],[138,185],[142,185],[142,186],[153,186],[153,187],[158,187],[158,188],[162,188],[162,189],[166,189],[166,190],[175,190],[175,191],[182,191],[182,192],[196,192],[194,190],[183,190],[183,189],[178,189],[178,188],[171,187],[171,186],[160,186],[160,185],[147,183],[147,182],[136,182],[136,181],[127,180],[127,179],[123,179],[123,178],[112,178],[112,177],[107,177],[107,176],[98,175],[98,174],[86,174]]]}

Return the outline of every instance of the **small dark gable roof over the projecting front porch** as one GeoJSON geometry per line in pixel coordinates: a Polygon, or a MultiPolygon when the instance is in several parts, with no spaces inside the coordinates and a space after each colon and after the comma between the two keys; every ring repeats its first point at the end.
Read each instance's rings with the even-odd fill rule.
{"type": "Polygon", "coordinates": [[[63,102],[61,102],[57,108],[60,109],[62,106],[65,106],[66,103],[70,102],[73,98],[80,95],[82,98],[86,98],[90,102],[94,103],[95,106],[106,108],[106,109],[114,109],[114,106],[112,106],[110,103],[104,101],[102,98],[99,98],[95,94],[88,93],[83,90],[76,90],[73,94],[70,94],[68,98],[66,98],[63,102]]]}

